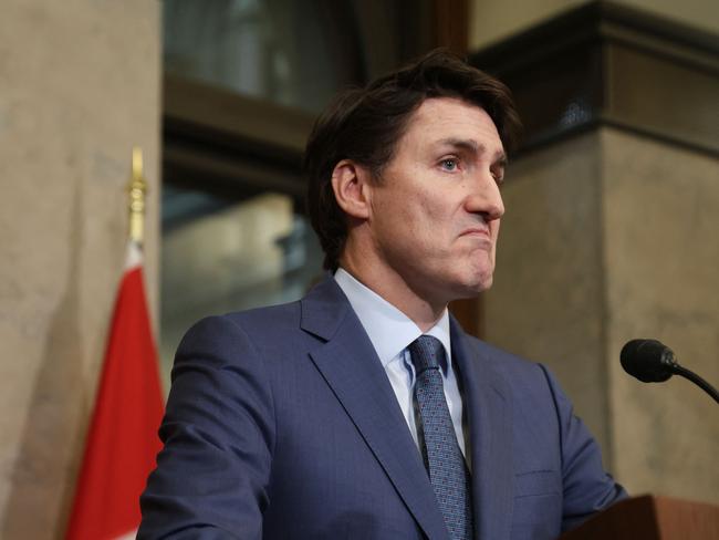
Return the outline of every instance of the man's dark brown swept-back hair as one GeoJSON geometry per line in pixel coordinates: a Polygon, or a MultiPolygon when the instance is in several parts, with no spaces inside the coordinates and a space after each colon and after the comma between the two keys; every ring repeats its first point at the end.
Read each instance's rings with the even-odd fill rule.
{"type": "Polygon", "coordinates": [[[435,50],[364,89],[341,92],[315,122],[303,164],[308,211],[325,253],[325,269],[337,269],[347,239],[346,215],[332,188],[334,167],[350,159],[378,179],[413,114],[428,97],[457,97],[481,107],[494,123],[506,150],[514,147],[520,121],[509,89],[444,50],[435,50]]]}

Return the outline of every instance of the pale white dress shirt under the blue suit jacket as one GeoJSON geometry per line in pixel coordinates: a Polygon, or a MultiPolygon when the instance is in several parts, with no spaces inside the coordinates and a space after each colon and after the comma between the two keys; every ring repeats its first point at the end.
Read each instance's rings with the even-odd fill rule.
{"type": "MultiPolygon", "coordinates": [[[[362,284],[344,269],[337,269],[334,279],[350,300],[352,309],[367,332],[369,341],[379,356],[379,362],[387,373],[392,388],[395,391],[409,432],[419,448],[413,399],[415,367],[407,346],[423,335],[421,330],[402,311],[362,284]]],[[[437,324],[425,334],[437,338],[445,347],[448,362],[440,370],[445,384],[445,398],[455,426],[457,443],[462,455],[467,456],[462,429],[462,401],[450,361],[449,313],[446,309],[437,324]]]]}

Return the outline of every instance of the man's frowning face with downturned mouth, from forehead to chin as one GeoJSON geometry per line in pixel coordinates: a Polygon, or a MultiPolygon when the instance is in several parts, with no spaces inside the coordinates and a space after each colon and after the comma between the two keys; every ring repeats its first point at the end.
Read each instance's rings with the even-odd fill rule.
{"type": "Polygon", "coordinates": [[[489,115],[426,100],[371,187],[367,225],[385,271],[425,301],[446,303],[492,283],[506,155],[489,115]]]}

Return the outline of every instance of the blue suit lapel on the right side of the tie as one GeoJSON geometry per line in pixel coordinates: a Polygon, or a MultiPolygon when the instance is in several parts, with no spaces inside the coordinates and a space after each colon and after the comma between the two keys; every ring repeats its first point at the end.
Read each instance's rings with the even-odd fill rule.
{"type": "Polygon", "coordinates": [[[507,383],[455,320],[451,321],[451,342],[469,420],[475,538],[509,539],[514,478],[507,383]]]}

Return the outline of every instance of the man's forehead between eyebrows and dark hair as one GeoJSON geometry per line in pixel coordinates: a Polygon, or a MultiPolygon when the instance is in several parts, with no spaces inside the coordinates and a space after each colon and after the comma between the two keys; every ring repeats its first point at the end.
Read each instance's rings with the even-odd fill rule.
{"type": "Polygon", "coordinates": [[[402,142],[444,139],[471,141],[492,153],[503,149],[497,126],[482,107],[457,97],[428,97],[411,115],[402,142]]]}

